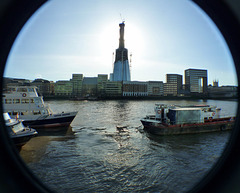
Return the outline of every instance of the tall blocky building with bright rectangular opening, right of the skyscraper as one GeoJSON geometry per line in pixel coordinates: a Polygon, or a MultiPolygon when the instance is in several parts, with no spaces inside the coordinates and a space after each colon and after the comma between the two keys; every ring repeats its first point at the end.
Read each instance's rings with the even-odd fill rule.
{"type": "Polygon", "coordinates": [[[185,70],[185,89],[190,93],[207,93],[207,70],[187,69],[185,70]]]}

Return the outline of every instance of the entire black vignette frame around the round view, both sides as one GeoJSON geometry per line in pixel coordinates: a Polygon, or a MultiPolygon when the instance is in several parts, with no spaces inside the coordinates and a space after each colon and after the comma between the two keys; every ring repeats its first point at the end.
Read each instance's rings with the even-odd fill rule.
{"type": "MultiPolygon", "coordinates": [[[[31,15],[46,0],[2,0],[0,2],[0,94],[3,71],[17,34],[31,15]]],[[[240,70],[240,4],[221,0],[193,0],[215,22],[232,54],[239,85],[240,70]],[[234,7],[233,7],[234,6],[234,7]]],[[[239,90],[238,90],[239,91],[239,90]]],[[[239,93],[239,92],[238,92],[239,93]]],[[[239,99],[239,94],[238,94],[239,99]]],[[[238,100],[239,101],[239,100],[238,100]]],[[[239,112],[239,105],[238,105],[239,112]]],[[[9,136],[0,103],[0,192],[51,192],[35,177],[22,161],[9,136]]],[[[190,192],[240,192],[239,113],[231,140],[212,170],[190,192]]]]}

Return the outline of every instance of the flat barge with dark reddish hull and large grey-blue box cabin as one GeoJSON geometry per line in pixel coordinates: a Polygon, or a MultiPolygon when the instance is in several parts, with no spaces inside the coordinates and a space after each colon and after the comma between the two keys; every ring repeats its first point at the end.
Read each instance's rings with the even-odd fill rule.
{"type": "Polygon", "coordinates": [[[154,135],[180,135],[231,130],[235,117],[221,117],[211,105],[155,104],[155,115],[141,119],[144,130],[154,135]]]}

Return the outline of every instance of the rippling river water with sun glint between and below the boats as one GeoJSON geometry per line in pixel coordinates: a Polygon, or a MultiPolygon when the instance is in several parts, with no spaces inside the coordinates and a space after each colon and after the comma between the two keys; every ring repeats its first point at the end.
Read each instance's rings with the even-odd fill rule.
{"type": "Polygon", "coordinates": [[[155,103],[210,104],[222,116],[236,101],[47,101],[54,112],[78,111],[72,131],[39,136],[20,155],[57,192],[186,192],[221,156],[230,131],[182,136],[145,133],[140,119],[155,103]],[[126,126],[118,131],[116,126],[126,126]]]}

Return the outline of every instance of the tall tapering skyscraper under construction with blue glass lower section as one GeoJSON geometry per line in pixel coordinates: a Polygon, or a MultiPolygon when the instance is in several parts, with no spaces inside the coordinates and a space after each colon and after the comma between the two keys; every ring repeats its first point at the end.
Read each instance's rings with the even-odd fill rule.
{"type": "Polygon", "coordinates": [[[124,22],[119,24],[120,38],[119,48],[116,49],[115,62],[113,68],[113,81],[131,81],[128,50],[124,46],[124,22]]]}

